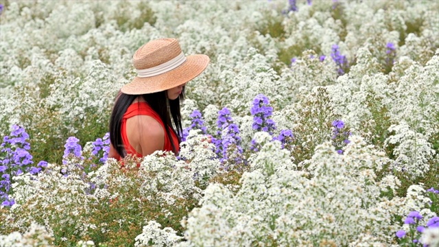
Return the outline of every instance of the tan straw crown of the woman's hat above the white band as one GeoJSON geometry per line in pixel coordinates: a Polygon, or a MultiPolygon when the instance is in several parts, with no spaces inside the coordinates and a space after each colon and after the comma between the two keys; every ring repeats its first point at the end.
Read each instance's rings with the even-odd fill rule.
{"type": "Polygon", "coordinates": [[[136,69],[150,69],[168,62],[182,53],[176,38],[151,40],[134,53],[132,64],[136,69]]]}

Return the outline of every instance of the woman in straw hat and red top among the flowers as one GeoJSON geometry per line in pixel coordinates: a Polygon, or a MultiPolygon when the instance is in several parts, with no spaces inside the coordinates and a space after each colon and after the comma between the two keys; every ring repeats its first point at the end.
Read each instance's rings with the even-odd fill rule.
{"type": "Polygon", "coordinates": [[[209,57],[185,56],[178,40],[152,40],[133,56],[137,76],[121,88],[110,119],[109,158],[143,157],[156,150],[179,152],[180,101],[186,83],[200,75],[209,57]]]}

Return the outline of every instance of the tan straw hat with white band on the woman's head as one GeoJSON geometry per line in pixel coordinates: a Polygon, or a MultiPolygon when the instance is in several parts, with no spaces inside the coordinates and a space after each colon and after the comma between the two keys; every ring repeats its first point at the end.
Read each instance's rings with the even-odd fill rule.
{"type": "Polygon", "coordinates": [[[137,49],[132,63],[137,76],[122,86],[121,92],[141,95],[165,91],[189,82],[206,69],[209,57],[202,54],[185,56],[178,40],[161,38],[137,49]]]}

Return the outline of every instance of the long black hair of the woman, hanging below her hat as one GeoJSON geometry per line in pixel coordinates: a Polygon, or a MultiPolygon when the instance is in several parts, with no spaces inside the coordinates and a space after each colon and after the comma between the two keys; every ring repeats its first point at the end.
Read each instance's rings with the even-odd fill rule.
{"type": "Polygon", "coordinates": [[[181,134],[183,132],[181,125],[180,102],[185,99],[185,86],[183,86],[180,96],[177,99],[172,100],[167,98],[167,91],[147,93],[144,95],[127,95],[125,93],[119,93],[110,118],[110,141],[112,146],[122,158],[126,156],[126,150],[123,146],[121,134],[122,118],[128,107],[134,102],[134,99],[139,96],[143,97],[145,102],[151,106],[152,110],[160,116],[165,125],[165,132],[171,141],[172,151],[174,154],[177,154],[176,145],[180,145],[181,134]],[[171,133],[167,126],[169,126],[171,131],[176,134],[178,143],[174,143],[172,140],[171,133]]]}

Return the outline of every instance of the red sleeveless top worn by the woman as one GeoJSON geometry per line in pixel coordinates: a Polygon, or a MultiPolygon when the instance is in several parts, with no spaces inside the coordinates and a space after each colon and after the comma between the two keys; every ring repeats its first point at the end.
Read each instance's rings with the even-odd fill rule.
{"type": "MultiPolygon", "coordinates": [[[[134,117],[137,115],[147,115],[156,119],[156,121],[158,121],[158,123],[161,124],[164,131],[165,131],[165,124],[163,124],[163,121],[161,120],[160,116],[154,110],[152,110],[151,106],[146,102],[137,102],[131,104],[128,107],[126,113],[123,115],[122,124],[121,124],[121,135],[122,135],[123,146],[125,147],[127,154],[135,154],[136,156],[141,158],[143,157],[143,155],[139,154],[134,148],[132,148],[132,145],[128,141],[128,137],[126,135],[126,120],[129,119],[130,117],[134,117]]],[[[173,151],[171,145],[171,139],[172,139],[172,142],[176,147],[176,152],[178,153],[180,151],[180,147],[178,145],[178,137],[176,136],[174,131],[172,131],[171,127],[168,126],[168,128],[169,128],[169,132],[171,133],[171,138],[168,137],[165,131],[165,144],[163,145],[163,151],[173,151]]]]}

